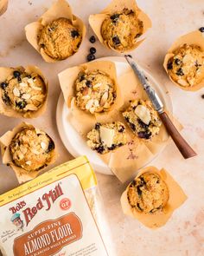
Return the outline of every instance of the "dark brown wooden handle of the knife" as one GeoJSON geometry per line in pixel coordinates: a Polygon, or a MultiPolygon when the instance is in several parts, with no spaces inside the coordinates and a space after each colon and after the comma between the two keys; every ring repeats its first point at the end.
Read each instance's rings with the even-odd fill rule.
{"type": "Polygon", "coordinates": [[[183,139],[182,135],[175,128],[175,126],[174,126],[173,122],[170,120],[169,116],[165,112],[163,112],[162,114],[159,114],[159,116],[160,116],[161,120],[163,121],[163,125],[167,129],[169,135],[171,136],[173,141],[175,141],[175,145],[181,152],[182,156],[185,159],[188,159],[190,157],[197,155],[194,152],[194,149],[188,145],[188,142],[183,139]]]}

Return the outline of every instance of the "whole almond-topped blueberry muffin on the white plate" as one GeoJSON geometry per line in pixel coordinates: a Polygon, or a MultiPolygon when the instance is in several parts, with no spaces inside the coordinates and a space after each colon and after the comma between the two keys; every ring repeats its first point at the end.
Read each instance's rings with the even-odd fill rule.
{"type": "Polygon", "coordinates": [[[76,105],[91,114],[108,111],[116,98],[116,85],[109,75],[97,70],[80,72],[75,82],[76,105]]]}

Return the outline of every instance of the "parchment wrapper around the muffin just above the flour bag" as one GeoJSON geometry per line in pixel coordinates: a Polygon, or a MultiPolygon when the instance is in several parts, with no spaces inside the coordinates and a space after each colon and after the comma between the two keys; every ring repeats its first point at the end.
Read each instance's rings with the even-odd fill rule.
{"type": "MultiPolygon", "coordinates": [[[[28,172],[28,171],[22,169],[21,167],[16,167],[16,165],[12,162],[11,155],[10,155],[10,142],[12,141],[12,139],[16,135],[16,133],[20,132],[21,129],[24,127],[34,128],[33,125],[26,123],[26,122],[22,122],[19,125],[17,125],[16,128],[13,128],[11,131],[6,132],[0,138],[0,146],[1,146],[3,164],[9,165],[14,170],[14,172],[16,174],[16,178],[19,181],[19,183],[23,183],[23,182],[34,179],[44,169],[44,168],[42,168],[40,171],[28,172]]],[[[56,149],[54,149],[53,159],[48,163],[48,165],[54,163],[56,156],[57,156],[56,149]]]]}

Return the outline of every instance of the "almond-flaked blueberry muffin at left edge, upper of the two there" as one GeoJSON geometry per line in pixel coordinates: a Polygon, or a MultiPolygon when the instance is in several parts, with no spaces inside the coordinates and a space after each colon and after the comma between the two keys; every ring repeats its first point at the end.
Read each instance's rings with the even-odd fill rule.
{"type": "Polygon", "coordinates": [[[35,112],[41,108],[47,97],[47,88],[40,75],[28,74],[22,69],[13,69],[12,75],[1,82],[4,104],[17,112],[35,112]]]}

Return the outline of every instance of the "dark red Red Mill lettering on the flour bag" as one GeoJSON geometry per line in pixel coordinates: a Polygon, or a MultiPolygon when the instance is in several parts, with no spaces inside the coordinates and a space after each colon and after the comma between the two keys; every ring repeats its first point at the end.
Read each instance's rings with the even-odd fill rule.
{"type": "Polygon", "coordinates": [[[35,207],[28,207],[22,211],[24,213],[26,226],[28,226],[29,221],[32,220],[35,215],[40,211],[43,207],[46,207],[46,211],[48,211],[55,200],[57,200],[63,194],[61,185],[58,184],[54,189],[51,189],[48,193],[43,194],[41,198],[37,200],[35,207]]]}

